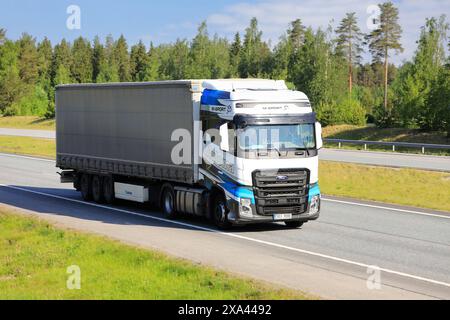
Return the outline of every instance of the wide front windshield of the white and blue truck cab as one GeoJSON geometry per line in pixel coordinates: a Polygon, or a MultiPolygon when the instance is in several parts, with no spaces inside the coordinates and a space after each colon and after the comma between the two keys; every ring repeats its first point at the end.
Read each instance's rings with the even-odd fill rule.
{"type": "Polygon", "coordinates": [[[315,149],[314,124],[249,126],[238,130],[238,145],[244,151],[315,149]]]}

